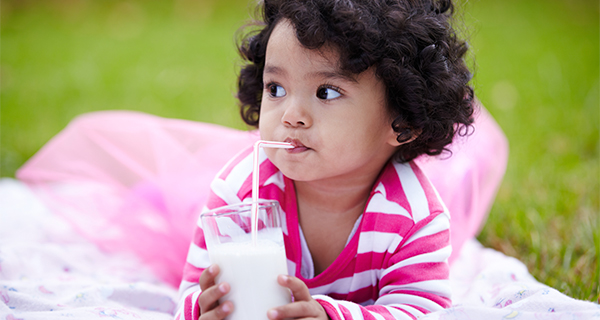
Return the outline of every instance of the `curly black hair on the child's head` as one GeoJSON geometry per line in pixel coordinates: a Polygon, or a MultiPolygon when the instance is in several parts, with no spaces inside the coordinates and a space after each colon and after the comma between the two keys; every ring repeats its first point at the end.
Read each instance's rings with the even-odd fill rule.
{"type": "MultiPolygon", "coordinates": [[[[464,57],[468,46],[450,25],[451,0],[264,0],[259,28],[238,49],[246,64],[238,78],[244,121],[258,127],[267,42],[282,19],[308,49],[337,49],[343,72],[370,67],[386,87],[400,162],[446,150],[472,128],[473,89],[464,57]]],[[[244,29],[242,29],[244,30],[244,29]]]]}

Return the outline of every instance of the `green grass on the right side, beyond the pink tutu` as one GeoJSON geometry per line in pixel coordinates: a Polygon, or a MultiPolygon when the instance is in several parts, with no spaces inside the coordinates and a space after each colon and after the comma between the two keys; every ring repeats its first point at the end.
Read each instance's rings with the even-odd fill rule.
{"type": "Polygon", "coordinates": [[[474,21],[479,98],[510,158],[479,240],[540,281],[599,301],[597,1],[491,1],[474,21]]]}

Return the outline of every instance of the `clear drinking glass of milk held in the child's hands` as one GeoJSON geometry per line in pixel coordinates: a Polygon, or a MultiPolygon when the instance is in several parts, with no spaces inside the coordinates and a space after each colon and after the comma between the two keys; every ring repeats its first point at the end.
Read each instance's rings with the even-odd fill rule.
{"type": "Polygon", "coordinates": [[[228,320],[265,320],[269,309],[291,301],[289,290],[277,283],[278,275],[288,273],[282,231],[285,217],[277,201],[260,200],[257,207],[255,239],[251,202],[201,215],[210,262],[221,269],[216,281],[231,287],[219,300],[233,302],[228,320]]]}

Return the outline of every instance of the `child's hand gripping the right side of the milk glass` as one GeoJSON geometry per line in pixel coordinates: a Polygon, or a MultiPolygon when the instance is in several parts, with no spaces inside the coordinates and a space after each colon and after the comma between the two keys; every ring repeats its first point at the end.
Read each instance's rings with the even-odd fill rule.
{"type": "Polygon", "coordinates": [[[294,302],[269,310],[267,312],[269,319],[329,319],[325,309],[312,298],[308,292],[308,287],[302,280],[296,277],[279,275],[277,282],[292,291],[294,302]]]}

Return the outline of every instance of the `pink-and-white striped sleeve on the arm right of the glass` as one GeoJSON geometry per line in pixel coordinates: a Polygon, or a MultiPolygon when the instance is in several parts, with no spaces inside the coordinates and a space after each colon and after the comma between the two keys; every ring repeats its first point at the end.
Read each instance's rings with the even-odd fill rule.
{"type": "Polygon", "coordinates": [[[373,305],[314,295],[332,320],[417,319],[451,306],[447,213],[423,219],[407,233],[381,270],[379,298],[373,305]]]}

